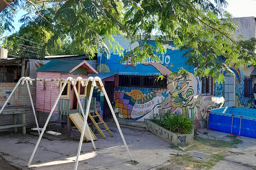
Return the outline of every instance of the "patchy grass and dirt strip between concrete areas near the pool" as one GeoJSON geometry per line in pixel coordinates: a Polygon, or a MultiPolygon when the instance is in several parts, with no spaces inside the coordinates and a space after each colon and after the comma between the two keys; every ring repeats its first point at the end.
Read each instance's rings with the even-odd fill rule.
{"type": "MultiPolygon", "coordinates": [[[[222,141],[195,135],[192,144],[183,146],[184,151],[180,150],[179,154],[170,158],[168,165],[157,167],[157,170],[211,169],[217,162],[224,160],[225,156],[233,155],[234,153],[228,150],[241,143],[236,137],[227,138],[228,141],[222,141]]],[[[179,150],[179,147],[173,149],[179,150]]]]}

